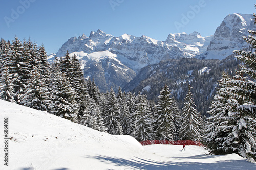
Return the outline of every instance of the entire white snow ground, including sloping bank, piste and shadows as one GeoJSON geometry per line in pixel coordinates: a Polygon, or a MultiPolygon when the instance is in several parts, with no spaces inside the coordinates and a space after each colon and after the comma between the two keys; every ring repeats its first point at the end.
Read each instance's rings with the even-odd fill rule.
{"type": "Polygon", "coordinates": [[[207,155],[203,147],[142,145],[131,136],[98,132],[47,112],[0,100],[9,118],[9,162],[0,169],[256,169],[237,154],[207,155]]]}

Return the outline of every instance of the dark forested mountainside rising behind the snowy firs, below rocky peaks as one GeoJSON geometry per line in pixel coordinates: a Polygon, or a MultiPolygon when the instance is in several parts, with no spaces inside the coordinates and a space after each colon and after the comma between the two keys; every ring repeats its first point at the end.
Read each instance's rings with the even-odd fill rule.
{"type": "MultiPolygon", "coordinates": [[[[206,111],[209,110],[216,91],[217,81],[221,78],[222,72],[227,71],[230,75],[234,75],[239,63],[240,61],[234,59],[234,55],[222,61],[199,60],[196,58],[165,60],[159,64],[152,65],[149,76],[141,81],[136,88],[130,90],[134,93],[143,91],[143,94],[146,94],[148,99],[156,102],[161,87],[166,84],[172,89],[172,94],[177,101],[178,107],[182,108],[183,100],[187,94],[187,85],[190,83],[193,87],[191,92],[193,93],[197,110],[202,116],[206,115],[208,117],[209,114],[206,111]],[[205,67],[205,72],[200,72],[205,67]],[[150,86],[149,91],[143,90],[146,86],[150,86]]],[[[128,84],[127,86],[130,85],[128,84]]]]}

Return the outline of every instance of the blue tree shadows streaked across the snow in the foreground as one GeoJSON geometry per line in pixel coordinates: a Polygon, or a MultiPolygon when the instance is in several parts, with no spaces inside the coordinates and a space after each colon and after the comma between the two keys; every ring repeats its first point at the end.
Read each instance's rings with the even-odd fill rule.
{"type": "MultiPolygon", "coordinates": [[[[205,155],[208,156],[208,155],[205,155]]],[[[206,159],[204,155],[194,156],[190,159],[206,159]]],[[[212,155],[211,155],[212,156],[212,155]]],[[[227,160],[227,161],[218,161],[217,163],[203,163],[200,162],[187,162],[188,158],[177,158],[184,159],[183,162],[175,162],[175,161],[153,161],[150,159],[142,159],[138,157],[134,157],[133,159],[123,159],[118,157],[109,157],[109,156],[88,156],[87,158],[97,159],[106,164],[114,164],[113,166],[119,167],[123,166],[127,169],[256,169],[256,164],[249,163],[246,160],[227,160]]],[[[209,158],[209,157],[208,157],[209,158]]],[[[212,157],[211,157],[212,158],[212,157]]],[[[172,158],[176,159],[176,158],[172,158]]]]}

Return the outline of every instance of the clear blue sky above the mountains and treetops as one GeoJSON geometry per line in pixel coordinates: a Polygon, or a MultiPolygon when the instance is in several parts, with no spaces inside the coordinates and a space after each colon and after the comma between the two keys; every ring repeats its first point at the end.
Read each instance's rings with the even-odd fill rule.
{"type": "Polygon", "coordinates": [[[252,0],[0,0],[0,37],[31,38],[56,53],[71,37],[91,31],[166,40],[168,34],[214,34],[232,13],[255,13],[252,0]],[[187,19],[184,19],[184,16],[187,19]]]}

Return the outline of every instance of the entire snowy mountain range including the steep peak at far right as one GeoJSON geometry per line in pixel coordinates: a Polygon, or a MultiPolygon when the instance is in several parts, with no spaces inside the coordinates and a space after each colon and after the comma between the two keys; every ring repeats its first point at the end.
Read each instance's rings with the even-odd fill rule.
{"type": "Polygon", "coordinates": [[[55,56],[64,56],[68,50],[71,56],[75,54],[80,59],[84,74],[94,78],[101,91],[110,87],[116,90],[130,82],[141,68],[162,60],[224,59],[233,54],[233,50],[248,48],[243,36],[248,35],[249,29],[253,29],[253,15],[238,13],[228,15],[215,34],[207,37],[198,32],[177,33],[159,41],[144,35],[114,37],[98,30],[92,31],[89,37],[83,34],[70,38],[56,54],[49,56],[49,61],[55,56]]]}

